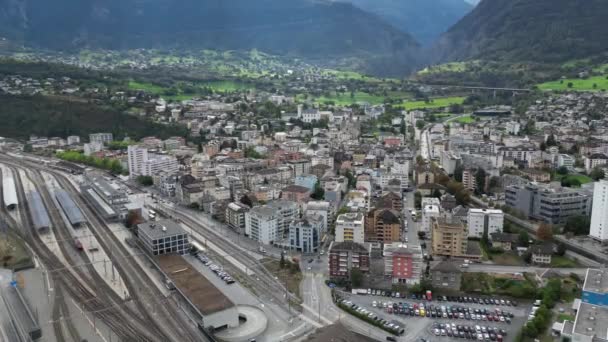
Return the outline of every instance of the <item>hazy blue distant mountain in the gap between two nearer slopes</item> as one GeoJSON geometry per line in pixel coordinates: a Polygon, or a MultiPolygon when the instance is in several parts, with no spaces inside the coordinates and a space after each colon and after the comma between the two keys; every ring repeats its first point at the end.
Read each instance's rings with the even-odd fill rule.
{"type": "Polygon", "coordinates": [[[473,9],[465,0],[338,0],[374,13],[430,44],[473,9]]]}

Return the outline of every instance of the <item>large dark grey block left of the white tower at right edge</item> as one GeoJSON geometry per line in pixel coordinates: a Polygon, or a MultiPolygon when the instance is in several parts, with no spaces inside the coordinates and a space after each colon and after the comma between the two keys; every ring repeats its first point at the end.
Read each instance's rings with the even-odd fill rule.
{"type": "Polygon", "coordinates": [[[592,196],[585,189],[524,184],[505,187],[505,203],[525,216],[551,224],[563,224],[572,216],[588,216],[592,196]]]}

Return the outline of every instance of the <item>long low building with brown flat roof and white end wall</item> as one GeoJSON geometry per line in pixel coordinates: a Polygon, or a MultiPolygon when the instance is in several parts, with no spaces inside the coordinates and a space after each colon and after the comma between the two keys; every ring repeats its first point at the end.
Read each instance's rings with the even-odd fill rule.
{"type": "Polygon", "coordinates": [[[163,255],[157,260],[167,279],[200,315],[205,329],[235,328],[239,325],[239,313],[234,303],[182,256],[163,255]]]}

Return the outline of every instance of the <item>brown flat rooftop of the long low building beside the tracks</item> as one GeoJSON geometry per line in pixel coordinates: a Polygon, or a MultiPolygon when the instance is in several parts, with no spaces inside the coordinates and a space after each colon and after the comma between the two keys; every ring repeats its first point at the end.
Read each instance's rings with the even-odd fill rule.
{"type": "Polygon", "coordinates": [[[158,257],[162,271],[175,287],[203,314],[209,315],[234,306],[206,277],[179,255],[158,257]]]}

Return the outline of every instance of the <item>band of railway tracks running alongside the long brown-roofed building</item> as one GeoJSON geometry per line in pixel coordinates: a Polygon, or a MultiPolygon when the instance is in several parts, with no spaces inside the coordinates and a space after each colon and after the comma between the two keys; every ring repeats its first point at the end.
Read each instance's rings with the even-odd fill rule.
{"type": "MultiPolygon", "coordinates": [[[[1,157],[0,157],[1,159],[1,157]]],[[[3,161],[4,162],[4,161],[3,161]]],[[[206,338],[197,330],[196,324],[184,323],[184,318],[180,317],[179,308],[171,301],[163,298],[162,293],[151,284],[147,274],[139,268],[139,265],[131,260],[131,256],[124,248],[116,236],[111,233],[110,228],[105,223],[105,220],[99,215],[86,197],[83,197],[78,192],[74,185],[67,178],[54,169],[42,167],[40,165],[30,165],[27,162],[15,162],[9,160],[9,163],[18,164],[20,167],[32,168],[40,172],[43,170],[55,177],[60,187],[68,191],[73,199],[83,211],[83,214],[90,222],[92,234],[95,236],[101,247],[109,252],[109,257],[114,263],[119,274],[125,280],[129,293],[132,295],[132,301],[140,311],[142,318],[138,319],[139,323],[143,324],[146,329],[144,336],[149,336],[149,339],[126,339],[127,341],[205,341],[206,338]],[[162,298],[162,299],[161,299],[162,298]],[[151,336],[150,336],[151,335],[151,336]]],[[[133,319],[133,317],[128,317],[133,319]]],[[[127,320],[128,320],[127,319],[127,320]]]]}

